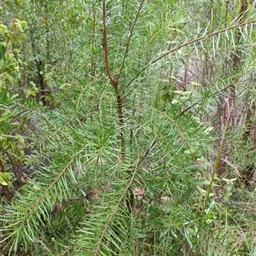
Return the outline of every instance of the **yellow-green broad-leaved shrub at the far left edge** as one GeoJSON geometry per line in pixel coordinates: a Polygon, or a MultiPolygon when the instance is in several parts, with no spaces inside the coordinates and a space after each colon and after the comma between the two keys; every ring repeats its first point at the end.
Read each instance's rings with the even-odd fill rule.
{"type": "Polygon", "coordinates": [[[1,196],[8,200],[15,182],[10,170],[25,162],[25,139],[15,132],[20,125],[10,105],[17,101],[15,90],[19,86],[23,66],[20,48],[26,39],[26,29],[25,20],[15,19],[9,29],[0,24],[0,37],[3,38],[0,50],[0,187],[1,196]]]}

